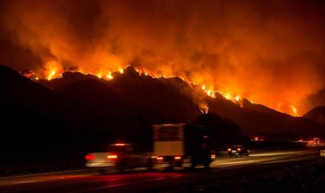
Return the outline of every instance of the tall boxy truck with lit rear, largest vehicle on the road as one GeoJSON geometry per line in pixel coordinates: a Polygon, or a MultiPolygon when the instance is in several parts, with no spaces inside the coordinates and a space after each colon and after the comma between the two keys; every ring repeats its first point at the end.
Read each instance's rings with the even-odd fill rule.
{"type": "Polygon", "coordinates": [[[215,159],[211,139],[204,128],[187,124],[153,125],[154,166],[173,169],[174,166],[209,168],[215,159]]]}

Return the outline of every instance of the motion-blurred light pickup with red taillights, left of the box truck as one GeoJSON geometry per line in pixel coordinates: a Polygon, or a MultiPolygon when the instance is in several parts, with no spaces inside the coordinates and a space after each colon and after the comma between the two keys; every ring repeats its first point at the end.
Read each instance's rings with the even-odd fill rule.
{"type": "Polygon", "coordinates": [[[92,152],[85,157],[87,167],[115,168],[119,171],[137,167],[152,169],[151,153],[138,145],[115,143],[109,145],[107,152],[92,152]]]}

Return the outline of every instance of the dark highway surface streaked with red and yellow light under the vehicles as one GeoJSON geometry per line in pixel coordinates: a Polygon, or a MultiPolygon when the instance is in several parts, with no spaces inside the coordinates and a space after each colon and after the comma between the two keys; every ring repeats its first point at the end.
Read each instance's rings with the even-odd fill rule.
{"type": "Polygon", "coordinates": [[[92,169],[34,176],[0,178],[0,192],[152,192],[187,184],[200,183],[236,173],[271,169],[285,164],[309,162],[319,151],[293,150],[253,153],[250,157],[220,157],[210,170],[198,167],[195,172],[147,172],[136,169],[127,173],[96,173],[92,169]]]}

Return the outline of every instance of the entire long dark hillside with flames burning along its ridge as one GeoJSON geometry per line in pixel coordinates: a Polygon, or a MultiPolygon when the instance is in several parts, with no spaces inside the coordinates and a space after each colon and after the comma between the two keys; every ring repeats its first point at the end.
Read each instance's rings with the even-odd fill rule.
{"type": "Polygon", "coordinates": [[[231,101],[218,92],[211,97],[181,78],[153,78],[133,66],[112,73],[109,80],[70,71],[61,78],[31,81],[5,66],[0,73],[3,110],[20,112],[22,108],[35,117],[61,120],[66,128],[113,132],[108,136],[131,137],[154,123],[190,123],[208,112],[233,120],[248,136],[278,139],[324,133],[324,128],[307,118],[291,117],[247,99],[231,101]]]}

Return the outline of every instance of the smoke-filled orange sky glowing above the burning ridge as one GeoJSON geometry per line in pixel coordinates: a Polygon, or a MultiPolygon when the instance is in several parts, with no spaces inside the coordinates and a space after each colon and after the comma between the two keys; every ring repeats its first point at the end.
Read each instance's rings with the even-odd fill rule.
{"type": "Polygon", "coordinates": [[[1,1],[0,63],[44,78],[133,64],[303,115],[324,105],[309,97],[325,87],[324,14],[307,0],[1,1]]]}

